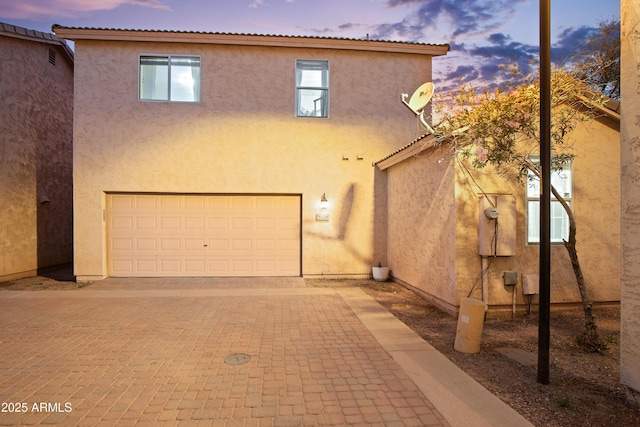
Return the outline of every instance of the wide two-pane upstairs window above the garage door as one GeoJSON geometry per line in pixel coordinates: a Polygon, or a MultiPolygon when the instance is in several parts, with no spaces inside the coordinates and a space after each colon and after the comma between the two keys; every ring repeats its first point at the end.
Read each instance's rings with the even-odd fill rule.
{"type": "Polygon", "coordinates": [[[140,55],[141,101],[200,102],[200,57],[140,55]]]}

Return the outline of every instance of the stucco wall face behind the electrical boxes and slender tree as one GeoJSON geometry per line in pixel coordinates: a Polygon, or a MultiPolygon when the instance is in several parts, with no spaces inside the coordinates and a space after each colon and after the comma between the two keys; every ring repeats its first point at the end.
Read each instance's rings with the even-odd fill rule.
{"type": "MultiPolygon", "coordinates": [[[[577,224],[577,251],[587,284],[588,297],[597,302],[619,301],[619,123],[602,117],[582,123],[569,135],[574,147],[572,207],[577,224]]],[[[470,168],[471,169],[471,168],[470,168]]],[[[481,272],[478,259],[478,199],[481,192],[473,181],[457,171],[458,233],[468,236],[457,245],[458,298],[466,297],[481,272]],[[475,259],[475,261],[473,261],[475,259]]],[[[505,271],[518,273],[516,304],[528,304],[522,294],[524,274],[538,274],[539,246],[526,240],[525,184],[507,182],[497,174],[473,171],[477,183],[487,194],[510,194],[516,199],[516,254],[497,257],[487,271],[488,303],[494,310],[509,311],[513,302],[513,288],[505,287],[505,271]]],[[[500,236],[499,236],[500,238],[500,236]]],[[[482,286],[472,295],[482,298],[482,286]]],[[[580,294],[563,245],[551,248],[551,302],[577,303],[580,294]]],[[[533,298],[533,303],[537,297],[533,298]]]]}

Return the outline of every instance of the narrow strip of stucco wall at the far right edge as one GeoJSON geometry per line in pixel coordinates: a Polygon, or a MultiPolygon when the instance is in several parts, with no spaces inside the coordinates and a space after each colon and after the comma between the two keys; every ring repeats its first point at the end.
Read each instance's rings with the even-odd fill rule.
{"type": "Polygon", "coordinates": [[[640,405],[640,5],[623,0],[622,60],[622,311],[620,378],[640,405]]]}

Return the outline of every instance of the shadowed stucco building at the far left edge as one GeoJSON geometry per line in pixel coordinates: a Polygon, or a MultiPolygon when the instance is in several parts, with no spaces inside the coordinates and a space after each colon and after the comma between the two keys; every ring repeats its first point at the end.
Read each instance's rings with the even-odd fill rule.
{"type": "Polygon", "coordinates": [[[0,281],[73,261],[73,53],[0,23],[0,281]]]}

